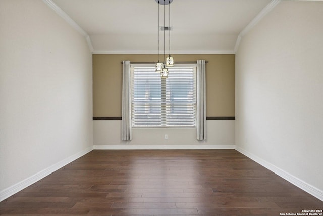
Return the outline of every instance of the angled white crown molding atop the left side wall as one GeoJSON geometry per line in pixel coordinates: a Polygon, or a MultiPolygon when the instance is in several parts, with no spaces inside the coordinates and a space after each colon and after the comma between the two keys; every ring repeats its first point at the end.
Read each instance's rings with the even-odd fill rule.
{"type": "Polygon", "coordinates": [[[91,52],[93,52],[93,46],[90,36],[84,31],[69,15],[67,15],[58,5],[52,0],[42,0],[49,8],[55,11],[60,17],[62,17],[72,28],[78,31],[83,37],[85,37],[87,45],[91,52]]]}

